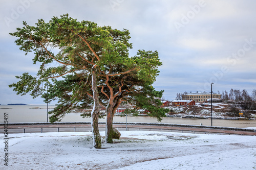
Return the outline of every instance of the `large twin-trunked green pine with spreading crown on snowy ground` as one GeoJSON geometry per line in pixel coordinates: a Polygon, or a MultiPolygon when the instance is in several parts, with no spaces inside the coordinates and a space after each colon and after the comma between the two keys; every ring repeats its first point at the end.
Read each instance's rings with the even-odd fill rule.
{"type": "Polygon", "coordinates": [[[106,108],[106,142],[112,143],[113,116],[122,102],[147,109],[149,115],[165,116],[160,108],[163,91],[152,84],[162,63],[158,53],[138,51],[129,57],[130,33],[109,26],[99,27],[91,21],[77,21],[68,14],[53,17],[49,22],[40,19],[36,26],[24,22],[23,28],[10,33],[20,50],[34,52],[33,62],[40,63],[36,77],[25,72],[17,83],[9,85],[17,94],[42,96],[45,101],[58,100],[50,113],[50,122],[60,121],[73,109],[86,109],[93,104],[93,147],[101,148],[98,129],[100,105],[106,108]],[[44,83],[44,86],[41,84],[44,83]],[[46,87],[49,86],[49,95],[46,87]]]}

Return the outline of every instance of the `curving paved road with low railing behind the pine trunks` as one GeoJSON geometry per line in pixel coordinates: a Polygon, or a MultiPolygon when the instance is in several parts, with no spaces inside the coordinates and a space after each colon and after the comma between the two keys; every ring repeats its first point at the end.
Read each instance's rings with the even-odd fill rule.
{"type": "MultiPolygon", "coordinates": [[[[126,125],[114,124],[114,128],[125,130],[126,125]]],[[[100,131],[105,128],[104,124],[99,124],[100,131]]],[[[128,130],[151,130],[151,131],[172,131],[186,133],[206,133],[206,134],[234,134],[234,135],[256,135],[256,132],[236,131],[212,128],[195,128],[195,127],[174,127],[174,126],[146,126],[146,125],[127,125],[128,130]]],[[[69,125],[8,125],[8,133],[34,133],[34,132],[82,132],[91,131],[90,124],[69,124],[69,125]]],[[[4,133],[4,126],[0,126],[0,133],[4,133]]]]}

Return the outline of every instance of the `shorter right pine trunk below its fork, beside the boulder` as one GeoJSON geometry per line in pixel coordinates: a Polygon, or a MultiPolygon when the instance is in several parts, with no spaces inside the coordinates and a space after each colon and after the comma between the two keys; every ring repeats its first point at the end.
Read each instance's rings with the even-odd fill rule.
{"type": "Polygon", "coordinates": [[[113,143],[113,104],[109,104],[106,107],[106,130],[105,130],[105,135],[106,135],[106,143],[113,143]]]}

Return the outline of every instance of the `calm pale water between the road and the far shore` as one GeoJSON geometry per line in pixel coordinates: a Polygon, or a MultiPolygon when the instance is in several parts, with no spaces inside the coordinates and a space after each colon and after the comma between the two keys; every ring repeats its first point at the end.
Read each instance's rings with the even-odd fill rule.
{"type": "MultiPolygon", "coordinates": [[[[49,106],[49,111],[54,106],[49,106]]],[[[9,123],[47,122],[47,106],[44,105],[0,105],[0,123],[4,123],[4,113],[8,114],[9,123]],[[8,109],[7,109],[8,108],[8,109]]],[[[91,118],[82,118],[80,113],[69,113],[61,122],[91,122],[91,118]]],[[[99,119],[99,122],[105,122],[99,119]]],[[[126,117],[115,116],[114,122],[126,122],[126,117]]],[[[127,122],[159,123],[156,118],[145,116],[128,116],[127,122]]],[[[164,117],[161,123],[182,125],[211,125],[210,119],[164,117]]],[[[256,127],[256,120],[223,120],[213,119],[213,126],[247,128],[256,127]]]]}

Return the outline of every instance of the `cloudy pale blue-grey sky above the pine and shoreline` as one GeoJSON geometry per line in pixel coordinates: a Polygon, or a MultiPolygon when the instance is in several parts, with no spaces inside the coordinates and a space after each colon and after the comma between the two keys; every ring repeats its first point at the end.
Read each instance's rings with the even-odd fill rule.
{"type": "Polygon", "coordinates": [[[158,51],[163,63],[154,86],[173,100],[184,91],[256,89],[256,2],[253,0],[1,0],[0,104],[43,104],[41,98],[16,95],[15,76],[35,75],[33,54],[25,56],[9,35],[22,22],[34,25],[67,14],[131,33],[137,50],[158,51]]]}

